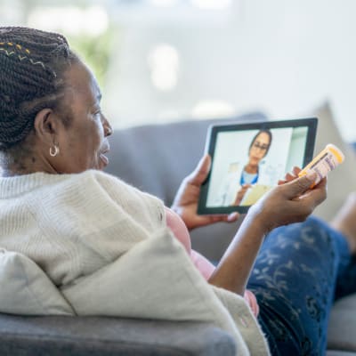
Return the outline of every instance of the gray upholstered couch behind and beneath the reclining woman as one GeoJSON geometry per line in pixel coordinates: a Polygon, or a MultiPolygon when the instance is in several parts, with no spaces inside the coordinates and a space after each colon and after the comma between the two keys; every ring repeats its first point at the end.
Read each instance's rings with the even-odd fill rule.
{"type": "MultiPolygon", "coordinates": [[[[252,113],[236,120],[263,120],[252,113]]],[[[184,121],[117,130],[108,172],[142,190],[173,201],[182,178],[204,151],[213,121],[184,121]]],[[[222,121],[219,121],[222,122],[222,121]]],[[[218,261],[239,223],[218,223],[192,232],[192,245],[218,261]]],[[[0,291],[1,293],[1,291],[0,291]]],[[[356,356],[356,297],[334,308],[328,356],[356,356]]],[[[0,314],[0,355],[235,355],[234,342],[211,325],[103,317],[23,317],[0,314]]]]}

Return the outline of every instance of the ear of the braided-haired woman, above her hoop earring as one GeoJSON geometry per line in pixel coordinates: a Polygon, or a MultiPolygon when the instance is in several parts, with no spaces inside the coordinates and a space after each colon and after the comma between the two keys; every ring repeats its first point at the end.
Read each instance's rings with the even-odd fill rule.
{"type": "Polygon", "coordinates": [[[53,109],[42,109],[37,112],[34,123],[36,137],[46,143],[53,144],[59,134],[59,120],[53,109]]]}

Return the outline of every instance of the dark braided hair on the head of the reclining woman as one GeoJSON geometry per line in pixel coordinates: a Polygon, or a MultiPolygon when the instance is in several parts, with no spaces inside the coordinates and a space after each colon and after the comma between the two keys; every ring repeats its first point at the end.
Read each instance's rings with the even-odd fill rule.
{"type": "Polygon", "coordinates": [[[64,36],[0,27],[0,150],[26,139],[38,111],[59,109],[63,74],[75,61],[64,36]]]}

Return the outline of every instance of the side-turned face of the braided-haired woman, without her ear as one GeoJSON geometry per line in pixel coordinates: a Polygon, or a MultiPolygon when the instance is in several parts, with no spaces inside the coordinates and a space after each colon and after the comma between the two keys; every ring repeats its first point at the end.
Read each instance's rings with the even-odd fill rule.
{"type": "MultiPolygon", "coordinates": [[[[60,153],[53,158],[58,173],[80,173],[108,165],[107,136],[112,133],[101,113],[101,92],[92,72],[81,62],[66,72],[63,103],[69,112],[69,127],[58,134],[60,153]]],[[[61,114],[60,114],[61,115],[61,114]]]]}

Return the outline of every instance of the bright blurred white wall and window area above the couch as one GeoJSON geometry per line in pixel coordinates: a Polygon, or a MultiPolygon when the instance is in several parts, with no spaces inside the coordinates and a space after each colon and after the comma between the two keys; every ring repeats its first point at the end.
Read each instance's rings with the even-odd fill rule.
{"type": "Polygon", "coordinates": [[[354,0],[0,0],[0,24],[60,31],[89,63],[114,127],[329,101],[356,141],[354,0]]]}

